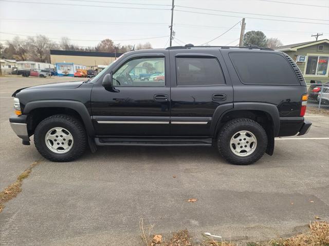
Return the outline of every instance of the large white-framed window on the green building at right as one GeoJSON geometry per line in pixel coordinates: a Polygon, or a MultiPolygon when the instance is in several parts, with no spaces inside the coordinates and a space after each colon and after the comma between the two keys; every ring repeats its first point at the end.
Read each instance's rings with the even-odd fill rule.
{"type": "Polygon", "coordinates": [[[327,75],[328,56],[308,56],[306,75],[327,75]]]}

